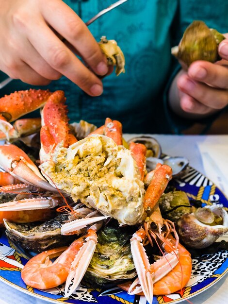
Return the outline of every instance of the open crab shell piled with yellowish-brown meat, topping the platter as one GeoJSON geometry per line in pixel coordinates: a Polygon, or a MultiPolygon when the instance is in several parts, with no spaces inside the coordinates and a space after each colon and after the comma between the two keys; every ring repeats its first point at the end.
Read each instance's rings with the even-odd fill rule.
{"type": "Polygon", "coordinates": [[[57,146],[41,166],[50,184],[120,225],[142,220],[144,183],[131,152],[104,135],[88,136],[69,148],[57,146]]]}

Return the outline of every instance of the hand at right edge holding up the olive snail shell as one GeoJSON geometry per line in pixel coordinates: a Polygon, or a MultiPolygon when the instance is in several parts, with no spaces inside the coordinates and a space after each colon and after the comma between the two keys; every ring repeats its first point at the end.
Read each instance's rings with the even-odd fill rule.
{"type": "MultiPolygon", "coordinates": [[[[228,38],[228,34],[224,35],[228,38]]],[[[195,61],[187,72],[181,70],[176,76],[170,89],[170,106],[176,114],[203,118],[228,105],[228,39],[220,43],[218,51],[223,60],[215,64],[195,61]]]]}

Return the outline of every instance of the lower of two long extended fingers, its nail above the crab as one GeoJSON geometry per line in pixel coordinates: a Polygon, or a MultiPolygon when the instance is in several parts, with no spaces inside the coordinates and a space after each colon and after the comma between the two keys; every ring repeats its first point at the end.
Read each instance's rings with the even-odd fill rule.
{"type": "Polygon", "coordinates": [[[101,95],[102,82],[49,29],[44,20],[31,23],[28,39],[48,64],[91,96],[101,95]],[[34,36],[33,33],[36,32],[34,36]]]}

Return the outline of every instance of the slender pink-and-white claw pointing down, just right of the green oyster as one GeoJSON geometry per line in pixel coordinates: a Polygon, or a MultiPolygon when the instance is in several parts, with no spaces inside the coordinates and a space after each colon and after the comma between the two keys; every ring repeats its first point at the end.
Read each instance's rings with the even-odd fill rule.
{"type": "Polygon", "coordinates": [[[139,282],[149,304],[153,301],[153,278],[146,251],[141,243],[146,232],[140,228],[130,239],[130,248],[139,282]]]}

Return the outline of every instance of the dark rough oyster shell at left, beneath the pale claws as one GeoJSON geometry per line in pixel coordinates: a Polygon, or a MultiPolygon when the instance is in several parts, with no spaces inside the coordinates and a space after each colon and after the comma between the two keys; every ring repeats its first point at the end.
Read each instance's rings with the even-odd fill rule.
{"type": "Polygon", "coordinates": [[[4,219],[7,237],[23,249],[43,252],[51,248],[69,245],[75,236],[62,236],[61,226],[68,214],[60,214],[43,223],[17,224],[4,219]]]}

